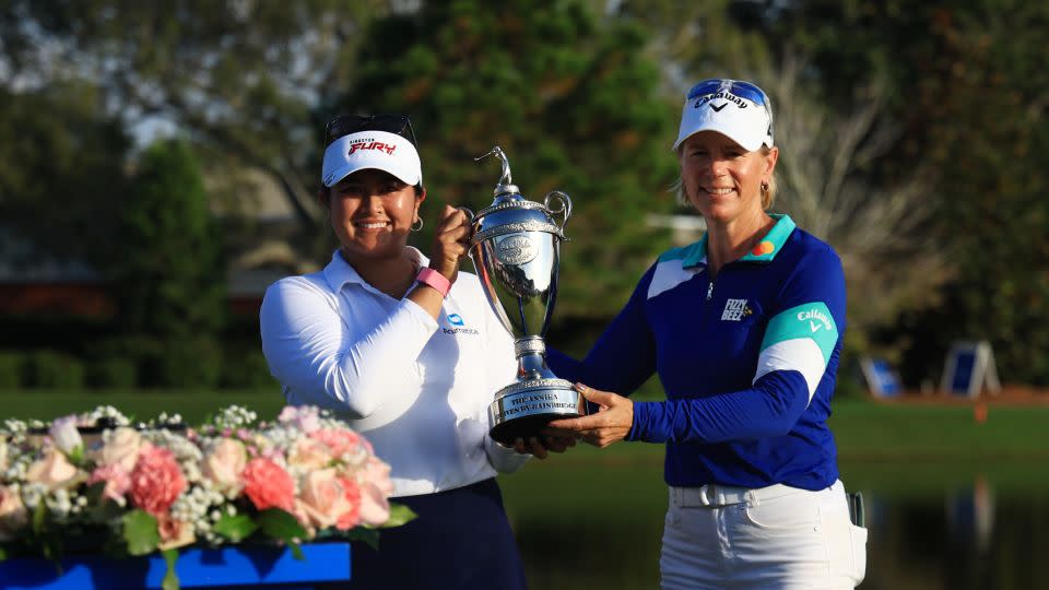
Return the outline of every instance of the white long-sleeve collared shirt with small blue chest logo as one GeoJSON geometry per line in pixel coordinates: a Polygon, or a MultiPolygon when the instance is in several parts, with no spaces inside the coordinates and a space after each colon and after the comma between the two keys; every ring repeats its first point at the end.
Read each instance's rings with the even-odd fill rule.
{"type": "Polygon", "coordinates": [[[365,435],[391,467],[394,496],[461,487],[528,459],[487,436],[488,404],[517,362],[476,275],[459,272],[434,321],[337,250],[322,271],[270,285],[259,317],[287,402],[332,410],[365,435]]]}

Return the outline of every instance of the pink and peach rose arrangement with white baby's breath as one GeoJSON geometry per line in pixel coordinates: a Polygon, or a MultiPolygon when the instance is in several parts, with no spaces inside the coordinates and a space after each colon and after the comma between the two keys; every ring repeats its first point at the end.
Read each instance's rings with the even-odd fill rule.
{"type": "Polygon", "coordinates": [[[390,468],[327,411],[258,423],[236,405],[199,428],[176,415],[132,426],[111,406],[0,427],[0,559],[360,539],[414,518],[391,505],[390,468]]]}

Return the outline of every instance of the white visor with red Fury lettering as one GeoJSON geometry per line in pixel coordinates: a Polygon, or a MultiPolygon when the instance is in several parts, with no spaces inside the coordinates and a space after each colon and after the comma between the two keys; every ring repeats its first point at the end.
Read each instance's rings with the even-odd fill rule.
{"type": "Polygon", "coordinates": [[[331,142],[325,150],[320,178],[331,188],[351,174],[368,168],[388,172],[406,185],[423,181],[415,146],[388,131],[358,131],[331,142]]]}

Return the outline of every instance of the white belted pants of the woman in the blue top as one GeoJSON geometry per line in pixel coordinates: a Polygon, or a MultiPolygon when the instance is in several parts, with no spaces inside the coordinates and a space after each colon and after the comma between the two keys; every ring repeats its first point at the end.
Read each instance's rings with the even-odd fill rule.
{"type": "Polygon", "coordinates": [[[840,481],[818,492],[671,487],[659,568],[664,590],[854,588],[867,529],[849,520],[840,481]]]}

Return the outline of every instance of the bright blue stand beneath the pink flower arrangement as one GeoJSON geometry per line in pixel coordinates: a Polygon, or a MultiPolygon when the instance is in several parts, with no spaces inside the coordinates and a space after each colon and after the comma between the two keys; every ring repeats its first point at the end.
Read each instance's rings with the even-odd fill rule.
{"type": "MultiPolygon", "coordinates": [[[[313,589],[350,580],[350,544],[302,545],[305,559],[288,548],[226,547],[179,552],[175,571],[181,588],[231,586],[281,590],[313,589]]],[[[62,559],[62,573],[44,558],[0,562],[3,590],[146,590],[161,588],[167,564],[160,555],[129,559],[76,556],[62,559]]]]}

